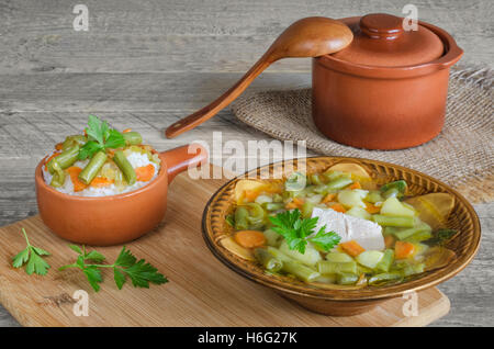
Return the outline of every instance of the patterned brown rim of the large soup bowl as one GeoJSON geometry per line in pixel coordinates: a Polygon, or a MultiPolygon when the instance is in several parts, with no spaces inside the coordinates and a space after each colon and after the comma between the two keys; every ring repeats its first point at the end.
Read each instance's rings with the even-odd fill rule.
{"type": "MultiPolygon", "coordinates": [[[[409,169],[409,168],[406,168],[406,167],[403,167],[400,165],[380,161],[380,160],[367,159],[367,158],[339,157],[339,156],[313,156],[313,157],[305,157],[305,158],[293,158],[290,160],[281,160],[281,161],[271,162],[271,164],[268,164],[265,166],[259,166],[252,170],[249,170],[239,176],[236,176],[235,178],[228,180],[226,183],[224,183],[222,187],[220,187],[213,193],[213,195],[211,195],[211,198],[209,199],[209,201],[204,207],[204,211],[203,211],[201,226],[202,226],[202,235],[203,235],[204,241],[205,241],[206,246],[209,247],[209,249],[211,250],[211,252],[221,262],[223,262],[227,268],[235,271],[236,273],[239,273],[240,275],[243,275],[256,283],[262,284],[265,286],[274,289],[274,290],[283,292],[283,293],[290,293],[293,295],[299,295],[299,296],[304,296],[304,297],[324,299],[324,300],[328,300],[328,301],[345,301],[345,302],[378,301],[378,300],[397,297],[397,296],[402,296],[404,293],[413,292],[413,291],[418,292],[418,291],[435,286],[446,280],[449,280],[452,277],[454,277],[456,274],[458,274],[460,271],[462,271],[475,257],[476,252],[479,251],[480,240],[481,240],[481,235],[482,235],[479,216],[476,215],[473,206],[458,191],[451,189],[446,183],[444,183],[428,174],[425,174],[423,172],[419,172],[419,171],[416,171],[416,170],[413,170],[413,169],[409,169]],[[402,171],[404,170],[407,172],[412,172],[415,176],[426,178],[429,181],[446,188],[447,191],[449,191],[451,194],[453,194],[456,200],[461,201],[461,203],[465,206],[470,217],[472,218],[473,244],[474,244],[473,249],[470,249],[469,254],[467,256],[464,256],[462,259],[458,258],[454,262],[456,263],[458,262],[459,264],[456,266],[452,270],[447,271],[447,268],[441,268],[441,269],[431,271],[429,273],[426,273],[425,275],[423,275],[420,278],[416,278],[416,279],[413,279],[411,281],[406,281],[403,283],[397,283],[397,284],[393,284],[390,286],[381,286],[381,288],[362,288],[362,289],[358,289],[358,290],[343,290],[343,289],[326,290],[326,289],[311,288],[308,285],[303,286],[303,285],[299,285],[299,284],[294,284],[294,283],[280,281],[278,279],[274,279],[272,275],[267,275],[266,273],[255,274],[254,272],[250,272],[250,271],[243,269],[239,266],[233,263],[226,257],[226,255],[233,255],[233,254],[229,252],[226,248],[221,247],[217,243],[214,243],[212,239],[210,239],[210,236],[207,234],[207,230],[211,228],[210,226],[207,226],[207,221],[209,221],[207,218],[210,215],[210,210],[212,209],[212,203],[215,201],[215,199],[217,196],[220,196],[222,194],[222,192],[228,185],[231,185],[233,182],[239,180],[243,177],[244,178],[247,177],[248,173],[256,172],[256,171],[259,172],[261,169],[273,167],[277,165],[278,166],[284,165],[284,162],[288,162],[288,161],[293,161],[293,164],[296,164],[296,161],[299,161],[301,159],[312,159],[312,160],[333,159],[336,161],[337,160],[349,160],[349,161],[356,161],[358,164],[361,164],[361,161],[364,161],[364,162],[370,162],[373,165],[381,165],[381,166],[400,169],[402,171]],[[225,251],[226,251],[226,254],[225,254],[225,251]],[[439,278],[424,282],[424,279],[426,277],[430,277],[430,275],[435,275],[435,274],[439,274],[439,278]]],[[[239,258],[239,257],[235,257],[235,258],[239,258]]]]}

